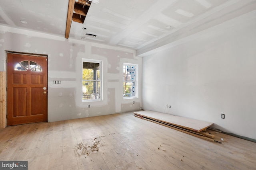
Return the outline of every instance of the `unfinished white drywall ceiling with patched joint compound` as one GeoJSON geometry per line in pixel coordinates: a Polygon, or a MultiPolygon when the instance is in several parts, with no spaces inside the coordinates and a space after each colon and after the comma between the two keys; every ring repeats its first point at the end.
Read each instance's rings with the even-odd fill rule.
{"type": "MultiPolygon", "coordinates": [[[[99,0],[84,24],[72,22],[70,37],[82,28],[92,41],[146,53],[224,21],[256,10],[256,0],[99,0]],[[171,26],[168,28],[167,26],[171,26]]],[[[0,24],[65,37],[68,0],[0,0],[0,24]],[[20,21],[26,21],[27,24],[20,21]]]]}

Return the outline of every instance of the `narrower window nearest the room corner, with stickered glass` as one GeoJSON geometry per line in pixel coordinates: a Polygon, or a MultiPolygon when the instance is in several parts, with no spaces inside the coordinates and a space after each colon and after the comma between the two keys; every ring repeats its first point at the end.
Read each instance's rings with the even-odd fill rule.
{"type": "Polygon", "coordinates": [[[124,84],[123,84],[123,96],[125,98],[136,98],[137,97],[137,74],[136,74],[136,64],[124,63],[123,66],[123,75],[124,75],[124,84]]]}

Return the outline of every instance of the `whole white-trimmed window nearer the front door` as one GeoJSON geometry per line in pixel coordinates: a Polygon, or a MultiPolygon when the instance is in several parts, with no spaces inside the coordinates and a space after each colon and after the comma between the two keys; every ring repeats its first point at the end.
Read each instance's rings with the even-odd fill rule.
{"type": "Polygon", "coordinates": [[[82,59],[82,101],[102,100],[102,61],[82,59]]]}

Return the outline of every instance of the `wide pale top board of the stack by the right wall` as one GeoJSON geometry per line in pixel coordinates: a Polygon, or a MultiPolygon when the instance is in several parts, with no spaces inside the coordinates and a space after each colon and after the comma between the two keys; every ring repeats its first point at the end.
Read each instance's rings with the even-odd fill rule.
{"type": "Polygon", "coordinates": [[[204,129],[207,129],[208,127],[212,126],[213,123],[207,122],[207,121],[201,121],[196,119],[191,119],[187,117],[181,117],[176,115],[170,115],[166,113],[160,113],[156,111],[137,111],[134,112],[135,115],[148,117],[150,119],[155,119],[157,121],[162,121],[164,123],[176,125],[178,127],[190,129],[192,131],[200,132],[204,129]]]}

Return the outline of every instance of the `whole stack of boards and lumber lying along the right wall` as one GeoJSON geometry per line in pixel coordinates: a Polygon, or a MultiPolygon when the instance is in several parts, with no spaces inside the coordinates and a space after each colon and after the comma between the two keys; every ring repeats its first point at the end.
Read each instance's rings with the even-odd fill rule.
{"type": "Polygon", "coordinates": [[[134,112],[134,116],[208,141],[218,142],[213,139],[214,135],[206,132],[206,129],[213,125],[211,122],[148,110],[134,112]]]}

